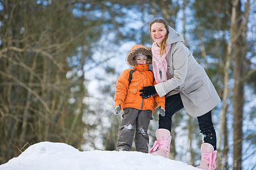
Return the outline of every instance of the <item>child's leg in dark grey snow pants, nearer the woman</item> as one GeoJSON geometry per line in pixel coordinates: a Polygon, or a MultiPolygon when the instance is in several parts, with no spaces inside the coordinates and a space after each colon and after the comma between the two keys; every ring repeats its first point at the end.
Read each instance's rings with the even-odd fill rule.
{"type": "Polygon", "coordinates": [[[137,117],[137,128],[135,133],[135,150],[139,152],[148,153],[148,141],[147,134],[150,120],[152,119],[152,111],[139,111],[137,117]]]}

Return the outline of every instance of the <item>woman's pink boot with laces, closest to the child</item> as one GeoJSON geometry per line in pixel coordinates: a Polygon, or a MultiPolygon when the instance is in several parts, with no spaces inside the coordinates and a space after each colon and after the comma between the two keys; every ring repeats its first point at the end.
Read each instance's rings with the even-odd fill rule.
{"type": "Polygon", "coordinates": [[[158,129],[155,131],[156,139],[152,148],[150,148],[150,154],[159,155],[168,158],[170,152],[171,133],[167,129],[158,129]]]}

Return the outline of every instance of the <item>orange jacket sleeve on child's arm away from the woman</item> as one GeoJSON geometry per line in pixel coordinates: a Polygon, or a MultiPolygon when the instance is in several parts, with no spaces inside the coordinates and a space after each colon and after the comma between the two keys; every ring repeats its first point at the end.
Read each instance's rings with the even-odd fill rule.
{"type": "Polygon", "coordinates": [[[123,73],[119,76],[116,83],[116,90],[114,95],[115,107],[121,105],[121,109],[123,110],[123,101],[125,101],[127,90],[129,88],[129,70],[123,71],[123,73]]]}

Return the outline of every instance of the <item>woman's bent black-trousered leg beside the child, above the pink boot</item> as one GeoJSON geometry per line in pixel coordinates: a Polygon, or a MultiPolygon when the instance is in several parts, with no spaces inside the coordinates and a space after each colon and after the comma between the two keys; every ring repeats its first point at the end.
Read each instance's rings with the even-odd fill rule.
{"type": "Polygon", "coordinates": [[[159,114],[159,129],[167,129],[171,132],[172,116],[182,108],[184,106],[180,94],[168,96],[166,98],[166,116],[159,114]]]}

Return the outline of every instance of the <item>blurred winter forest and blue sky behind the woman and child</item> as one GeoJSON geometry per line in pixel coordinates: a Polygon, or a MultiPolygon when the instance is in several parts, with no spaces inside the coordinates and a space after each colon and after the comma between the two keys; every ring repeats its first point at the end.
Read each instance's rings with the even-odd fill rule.
{"type": "MultiPolygon", "coordinates": [[[[212,111],[218,169],[256,168],[255,0],[0,0],[0,18],[0,164],[42,141],[115,150],[115,83],[131,47],[151,47],[149,23],[163,18],[221,98],[212,111]]],[[[169,158],[198,165],[197,118],[181,109],[171,134],[169,158]]]]}

